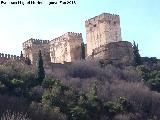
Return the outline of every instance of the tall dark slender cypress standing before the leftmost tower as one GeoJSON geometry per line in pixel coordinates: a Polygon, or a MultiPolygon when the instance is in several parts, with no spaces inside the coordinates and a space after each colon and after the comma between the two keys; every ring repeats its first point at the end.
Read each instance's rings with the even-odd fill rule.
{"type": "Polygon", "coordinates": [[[38,83],[41,84],[43,79],[45,78],[45,70],[43,67],[43,59],[42,59],[42,54],[41,54],[41,50],[39,50],[38,53],[38,83]]]}

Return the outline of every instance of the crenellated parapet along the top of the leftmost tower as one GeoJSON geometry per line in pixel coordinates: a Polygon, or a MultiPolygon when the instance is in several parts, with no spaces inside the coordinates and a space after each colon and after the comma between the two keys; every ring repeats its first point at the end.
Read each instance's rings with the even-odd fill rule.
{"type": "Polygon", "coordinates": [[[23,43],[23,47],[31,46],[32,44],[49,44],[49,40],[40,40],[40,39],[29,39],[23,43]]]}

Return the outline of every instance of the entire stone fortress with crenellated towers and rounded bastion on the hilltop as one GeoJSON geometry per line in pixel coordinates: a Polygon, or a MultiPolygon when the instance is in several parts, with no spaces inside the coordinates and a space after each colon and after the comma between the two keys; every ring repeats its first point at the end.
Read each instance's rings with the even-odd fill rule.
{"type": "MultiPolygon", "coordinates": [[[[103,13],[85,21],[85,56],[93,59],[111,59],[132,62],[132,44],[122,41],[119,15],[103,13]]],[[[44,64],[74,62],[81,59],[82,34],[67,32],[52,40],[29,39],[23,43],[24,57],[36,64],[42,51],[44,64]]],[[[0,56],[4,58],[4,56],[0,56]]]]}

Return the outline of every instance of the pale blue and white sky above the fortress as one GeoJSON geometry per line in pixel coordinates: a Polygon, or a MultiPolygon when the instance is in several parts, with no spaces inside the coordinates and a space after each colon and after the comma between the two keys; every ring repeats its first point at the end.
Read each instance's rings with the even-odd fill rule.
{"type": "Polygon", "coordinates": [[[24,5],[3,1],[0,53],[19,55],[22,43],[30,38],[51,40],[66,32],[82,33],[86,41],[85,20],[106,12],[120,15],[124,41],[135,40],[142,56],[160,58],[160,0],[76,0],[68,5],[60,0],[39,0],[39,5],[29,5],[28,0],[22,0],[24,5]]]}

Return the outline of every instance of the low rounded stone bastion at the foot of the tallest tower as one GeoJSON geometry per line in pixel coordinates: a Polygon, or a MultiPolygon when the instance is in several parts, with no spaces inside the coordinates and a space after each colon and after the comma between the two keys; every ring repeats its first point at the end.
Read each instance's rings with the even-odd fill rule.
{"type": "Polygon", "coordinates": [[[127,41],[105,44],[94,49],[92,57],[96,59],[109,59],[131,64],[133,62],[132,44],[127,41]]]}

